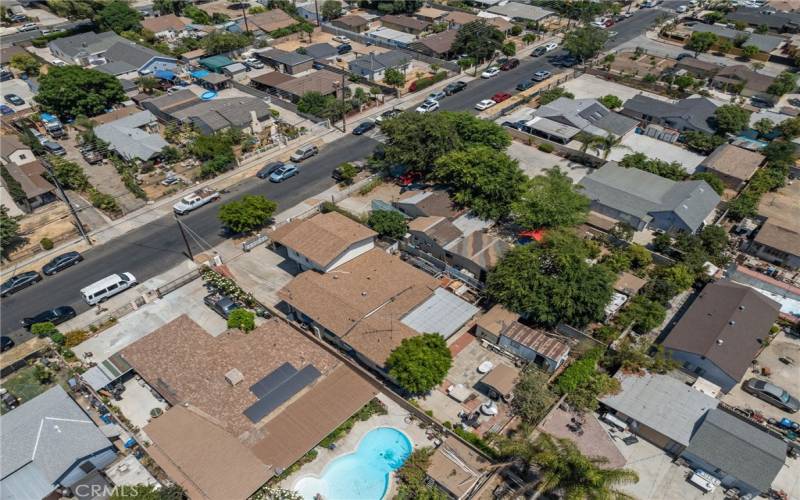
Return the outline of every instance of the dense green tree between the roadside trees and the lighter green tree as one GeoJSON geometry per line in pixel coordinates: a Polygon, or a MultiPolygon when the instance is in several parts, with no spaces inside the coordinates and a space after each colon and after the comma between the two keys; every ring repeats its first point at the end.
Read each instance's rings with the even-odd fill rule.
{"type": "Polygon", "coordinates": [[[433,177],[453,189],[456,203],[489,219],[501,219],[511,212],[527,180],[517,160],[484,145],[442,156],[436,161],[433,177]]]}

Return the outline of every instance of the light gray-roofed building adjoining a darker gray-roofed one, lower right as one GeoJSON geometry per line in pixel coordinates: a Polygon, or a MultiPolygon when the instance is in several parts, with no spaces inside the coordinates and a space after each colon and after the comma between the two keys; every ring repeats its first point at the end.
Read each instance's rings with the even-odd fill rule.
{"type": "Polygon", "coordinates": [[[670,453],[678,454],[689,446],[697,423],[719,404],[669,375],[619,371],[616,378],[620,391],[600,402],[631,431],[670,453]]]}

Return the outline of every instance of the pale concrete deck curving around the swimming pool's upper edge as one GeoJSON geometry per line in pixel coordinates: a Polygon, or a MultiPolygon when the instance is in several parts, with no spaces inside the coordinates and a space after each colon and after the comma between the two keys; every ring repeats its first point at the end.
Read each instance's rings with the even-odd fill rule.
{"type": "MultiPolygon", "coordinates": [[[[301,467],[300,470],[288,478],[284,479],[281,482],[280,487],[294,490],[295,485],[298,481],[300,481],[300,479],[309,476],[322,476],[326,465],[342,455],[356,451],[356,449],[358,449],[358,444],[361,442],[361,438],[363,438],[369,431],[378,427],[391,427],[403,432],[406,437],[408,437],[409,441],[411,441],[411,444],[415,450],[421,447],[434,446],[433,442],[428,440],[427,436],[425,435],[425,431],[420,429],[417,425],[419,423],[418,420],[415,419],[411,423],[406,423],[405,418],[409,415],[406,410],[386,397],[383,393],[379,393],[376,397],[386,405],[386,409],[388,410],[386,415],[375,415],[365,422],[357,422],[356,425],[354,425],[350,430],[349,434],[336,442],[336,449],[334,450],[317,447],[317,452],[319,453],[317,458],[313,462],[301,467]]],[[[392,498],[394,496],[393,490],[394,477],[390,478],[389,480],[389,488],[387,489],[384,498],[392,498]]]]}

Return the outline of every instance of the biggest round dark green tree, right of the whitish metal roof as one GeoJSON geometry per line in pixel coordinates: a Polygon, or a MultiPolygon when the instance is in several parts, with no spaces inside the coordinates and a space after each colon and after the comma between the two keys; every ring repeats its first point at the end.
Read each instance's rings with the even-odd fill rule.
{"type": "Polygon", "coordinates": [[[605,316],[616,279],[603,266],[589,265],[589,257],[574,234],[549,232],[541,244],[515,247],[501,259],[489,273],[487,295],[536,323],[582,327],[605,316]]]}

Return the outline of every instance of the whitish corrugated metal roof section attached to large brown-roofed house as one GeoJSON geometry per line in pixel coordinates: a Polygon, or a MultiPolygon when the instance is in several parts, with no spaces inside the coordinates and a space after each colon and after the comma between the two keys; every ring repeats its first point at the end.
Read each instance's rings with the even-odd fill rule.
{"type": "Polygon", "coordinates": [[[437,288],[428,300],[408,313],[401,322],[420,333],[438,333],[447,339],[476,314],[477,307],[437,288]]]}

